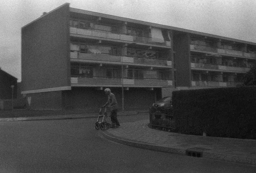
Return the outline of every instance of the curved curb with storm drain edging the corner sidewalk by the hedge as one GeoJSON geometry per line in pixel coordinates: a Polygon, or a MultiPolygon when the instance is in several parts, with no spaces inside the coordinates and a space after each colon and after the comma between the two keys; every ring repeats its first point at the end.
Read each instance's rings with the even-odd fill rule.
{"type": "Polygon", "coordinates": [[[107,139],[121,143],[124,145],[128,145],[131,147],[137,147],[142,149],[148,149],[152,151],[160,151],[164,153],[172,153],[172,154],[179,154],[179,155],[187,155],[191,157],[201,157],[204,159],[212,159],[218,161],[226,161],[231,163],[239,163],[239,164],[248,164],[251,166],[256,166],[256,158],[255,157],[246,157],[246,156],[237,156],[237,155],[227,155],[222,153],[213,153],[210,152],[208,149],[200,149],[200,148],[190,148],[190,149],[180,149],[180,148],[171,148],[171,147],[164,147],[160,145],[154,145],[152,143],[147,143],[143,141],[135,141],[132,139],[127,139],[124,137],[117,137],[112,135],[107,130],[102,131],[102,134],[107,139]]]}

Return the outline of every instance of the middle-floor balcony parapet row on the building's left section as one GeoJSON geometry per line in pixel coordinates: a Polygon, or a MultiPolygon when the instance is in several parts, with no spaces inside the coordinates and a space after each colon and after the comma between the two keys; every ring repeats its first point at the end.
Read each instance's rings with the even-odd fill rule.
{"type": "Polygon", "coordinates": [[[93,61],[120,62],[120,64],[148,64],[153,66],[168,66],[169,68],[172,67],[171,61],[112,56],[108,54],[85,54],[78,52],[70,52],[70,58],[93,61]]]}

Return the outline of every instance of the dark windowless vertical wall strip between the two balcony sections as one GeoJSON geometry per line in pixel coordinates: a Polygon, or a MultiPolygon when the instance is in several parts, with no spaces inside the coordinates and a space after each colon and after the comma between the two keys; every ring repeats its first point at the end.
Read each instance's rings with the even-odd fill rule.
{"type": "Polygon", "coordinates": [[[191,86],[190,70],[190,38],[188,33],[176,33],[173,35],[174,63],[176,69],[176,85],[178,87],[191,86]]]}

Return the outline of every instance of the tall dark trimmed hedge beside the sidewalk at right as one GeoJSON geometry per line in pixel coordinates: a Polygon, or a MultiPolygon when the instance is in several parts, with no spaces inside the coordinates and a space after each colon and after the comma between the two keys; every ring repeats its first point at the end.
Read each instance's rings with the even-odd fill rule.
{"type": "Polygon", "coordinates": [[[172,92],[179,133],[256,139],[256,87],[172,92]]]}

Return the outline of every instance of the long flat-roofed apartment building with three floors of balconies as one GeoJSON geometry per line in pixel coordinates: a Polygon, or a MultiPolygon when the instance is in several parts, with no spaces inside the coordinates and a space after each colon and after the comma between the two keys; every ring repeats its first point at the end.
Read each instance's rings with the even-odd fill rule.
{"type": "Polygon", "coordinates": [[[34,109],[148,109],[176,89],[234,87],[256,43],[100,14],[69,4],[22,27],[22,93],[34,109]]]}

